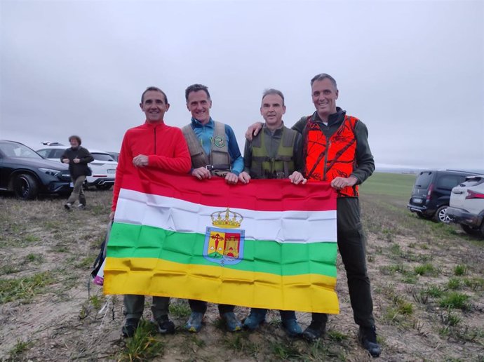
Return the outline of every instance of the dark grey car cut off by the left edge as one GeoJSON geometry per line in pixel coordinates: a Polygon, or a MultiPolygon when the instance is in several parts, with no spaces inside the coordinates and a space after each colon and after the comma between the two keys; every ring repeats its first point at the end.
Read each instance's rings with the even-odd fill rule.
{"type": "Polygon", "coordinates": [[[66,165],[43,159],[20,142],[0,140],[0,189],[20,199],[38,194],[69,194],[71,175],[66,165]]]}

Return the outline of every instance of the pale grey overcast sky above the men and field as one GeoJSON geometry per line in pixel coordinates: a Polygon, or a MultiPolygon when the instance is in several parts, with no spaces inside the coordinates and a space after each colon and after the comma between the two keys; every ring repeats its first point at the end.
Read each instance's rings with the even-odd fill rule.
{"type": "Polygon", "coordinates": [[[377,166],[484,168],[484,1],[0,1],[1,139],[117,151],[147,86],[181,127],[203,83],[243,151],[265,88],[292,126],[325,72],[377,166]]]}

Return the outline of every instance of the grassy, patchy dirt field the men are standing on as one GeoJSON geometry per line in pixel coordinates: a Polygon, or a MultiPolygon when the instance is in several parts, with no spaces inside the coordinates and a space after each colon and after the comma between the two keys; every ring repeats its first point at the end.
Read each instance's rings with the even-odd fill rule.
{"type": "MultiPolygon", "coordinates": [[[[484,361],[484,241],[406,209],[415,175],[375,173],[361,187],[380,361],[484,361]]],[[[173,300],[177,333],[145,321],[123,340],[122,298],[89,283],[112,193],[87,192],[88,208],[67,213],[61,198],[18,201],[0,195],[0,359],[11,361],[370,361],[356,342],[344,267],[338,257],[341,313],[319,342],[285,336],[278,311],[254,333],[226,333],[209,305],[193,335],[173,300]]],[[[236,308],[243,319],[248,309],[236,308]]],[[[297,313],[305,328],[310,314],[297,313]]]]}

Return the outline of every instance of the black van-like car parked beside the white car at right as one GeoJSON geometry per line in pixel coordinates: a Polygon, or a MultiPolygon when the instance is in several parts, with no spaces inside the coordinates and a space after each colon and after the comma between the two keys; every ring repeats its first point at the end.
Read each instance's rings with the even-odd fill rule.
{"type": "Polygon", "coordinates": [[[420,172],[408,201],[408,209],[424,219],[433,217],[437,222],[449,222],[447,208],[452,188],[464,182],[466,176],[471,175],[476,174],[457,170],[420,172]]]}

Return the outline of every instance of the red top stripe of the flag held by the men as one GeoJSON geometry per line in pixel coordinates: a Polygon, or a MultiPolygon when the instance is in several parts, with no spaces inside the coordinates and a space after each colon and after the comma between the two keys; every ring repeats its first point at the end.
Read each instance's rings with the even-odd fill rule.
{"type": "Polygon", "coordinates": [[[328,182],[293,185],[288,179],[250,180],[248,185],[228,185],[217,176],[198,180],[191,175],[138,169],[137,175],[123,176],[121,188],[220,208],[230,206],[258,211],[336,209],[336,192],[328,182]]]}

